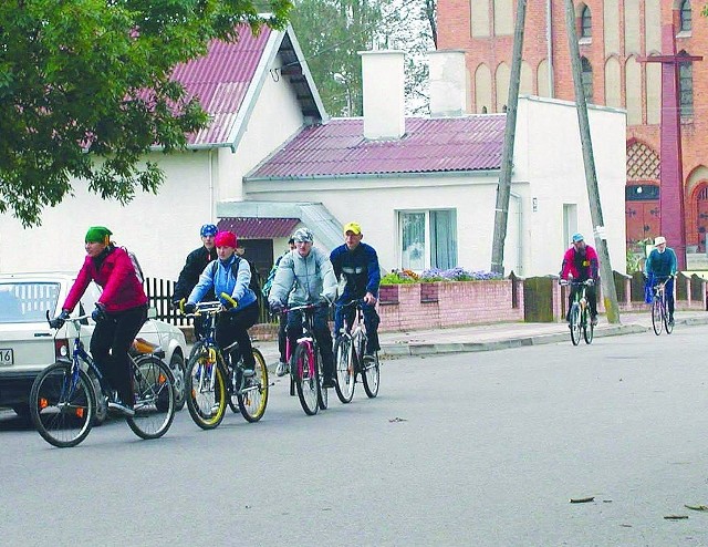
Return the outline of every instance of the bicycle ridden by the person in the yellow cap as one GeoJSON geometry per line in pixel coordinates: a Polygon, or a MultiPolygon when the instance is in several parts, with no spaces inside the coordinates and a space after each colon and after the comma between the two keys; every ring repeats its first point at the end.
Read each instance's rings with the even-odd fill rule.
{"type": "Polygon", "coordinates": [[[378,381],[381,379],[378,352],[374,354],[373,362],[364,360],[368,338],[364,327],[362,303],[363,300],[360,299],[342,305],[342,308],[356,307],[356,316],[353,321],[354,329],[347,324],[346,314],[344,314],[344,326],[334,342],[334,363],[336,368],[334,388],[342,403],[352,401],[357,373],[361,375],[366,395],[373,399],[378,394],[378,381]]]}

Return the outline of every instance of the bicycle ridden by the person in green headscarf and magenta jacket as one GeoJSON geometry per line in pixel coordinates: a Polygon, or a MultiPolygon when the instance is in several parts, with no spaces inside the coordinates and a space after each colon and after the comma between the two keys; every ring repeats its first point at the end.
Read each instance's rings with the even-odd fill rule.
{"type": "MultiPolygon", "coordinates": [[[[60,448],[76,446],[86,438],[96,422],[98,403],[115,398],[81,341],[81,326],[87,324],[90,317],[66,319],[75,330],[71,357],[44,369],[30,391],[32,423],[42,438],[60,448]]],[[[164,355],[159,347],[145,341],[134,342],[128,352],[135,415],[126,416],[126,421],[140,438],[163,436],[175,417],[175,380],[162,360],[164,355]]]]}

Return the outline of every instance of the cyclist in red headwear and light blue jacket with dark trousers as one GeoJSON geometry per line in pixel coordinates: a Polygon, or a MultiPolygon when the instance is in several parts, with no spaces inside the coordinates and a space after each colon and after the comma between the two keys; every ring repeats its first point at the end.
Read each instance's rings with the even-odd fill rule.
{"type": "MultiPolygon", "coordinates": [[[[248,329],[258,321],[259,310],[256,293],[249,287],[251,267],[244,258],[236,255],[236,234],[219,231],[214,241],[218,259],[207,265],[199,276],[199,281],[189,293],[187,303],[184,305],[184,311],[194,313],[196,303],[200,302],[210,289],[214,289],[216,298],[221,300],[228,310],[227,313],[219,316],[216,341],[221,349],[237,341],[243,357],[243,374],[253,375],[256,360],[248,329]],[[222,292],[236,300],[237,306],[221,298],[222,292]]],[[[238,355],[231,355],[232,361],[236,359],[238,355]]]]}

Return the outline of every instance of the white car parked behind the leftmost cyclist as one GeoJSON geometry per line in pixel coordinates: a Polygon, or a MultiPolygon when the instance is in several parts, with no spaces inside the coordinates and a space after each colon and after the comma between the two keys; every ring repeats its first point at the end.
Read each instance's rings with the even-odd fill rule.
{"type": "MultiPolygon", "coordinates": [[[[58,359],[71,358],[73,340],[67,340],[67,327],[50,328],[50,317],[61,312],[75,274],[0,274],[0,406],[10,406],[20,415],[29,415],[29,394],[34,378],[58,359]]],[[[101,296],[92,282],[72,312],[73,317],[91,313],[101,296]]],[[[148,312],[148,316],[150,313],[148,312]]],[[[95,323],[82,324],[81,339],[86,351],[95,323]]],[[[176,403],[184,405],[184,363],[187,343],[175,326],[148,319],[136,338],[158,344],[165,351],[165,362],[175,374],[176,403]]]]}

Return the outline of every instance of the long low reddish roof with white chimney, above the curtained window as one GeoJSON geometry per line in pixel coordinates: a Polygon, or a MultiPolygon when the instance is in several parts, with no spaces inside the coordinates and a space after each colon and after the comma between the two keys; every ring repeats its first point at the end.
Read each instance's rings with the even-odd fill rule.
{"type": "Polygon", "coordinates": [[[367,141],[363,118],[305,127],[248,178],[501,168],[506,114],[406,118],[397,141],[367,141]]]}

